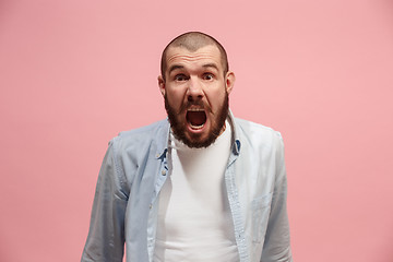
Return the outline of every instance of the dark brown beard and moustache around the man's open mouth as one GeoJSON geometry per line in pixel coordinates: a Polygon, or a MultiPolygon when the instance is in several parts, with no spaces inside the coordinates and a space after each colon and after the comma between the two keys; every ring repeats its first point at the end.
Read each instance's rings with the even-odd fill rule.
{"type": "MultiPolygon", "coordinates": [[[[228,112],[229,112],[229,96],[228,96],[227,92],[225,92],[225,93],[226,94],[225,94],[223,105],[218,109],[217,114],[214,116],[214,119],[212,119],[212,121],[211,121],[212,127],[211,127],[209,136],[204,140],[201,139],[202,134],[191,133],[190,134],[191,138],[188,138],[186,135],[187,120],[184,119],[183,121],[181,121],[178,119],[178,114],[176,112],[176,109],[169,105],[168,98],[165,95],[164,96],[165,109],[167,111],[170,128],[174,132],[175,138],[179,141],[183,142],[187,146],[192,147],[192,148],[207,147],[212,143],[214,143],[214,141],[219,136],[219,134],[225,126],[225,120],[227,119],[228,112]]],[[[191,105],[195,105],[195,103],[188,102],[188,104],[186,106],[181,107],[180,112],[182,110],[187,110],[187,108],[191,105]]],[[[200,104],[198,104],[198,105],[200,105],[200,104]]]]}

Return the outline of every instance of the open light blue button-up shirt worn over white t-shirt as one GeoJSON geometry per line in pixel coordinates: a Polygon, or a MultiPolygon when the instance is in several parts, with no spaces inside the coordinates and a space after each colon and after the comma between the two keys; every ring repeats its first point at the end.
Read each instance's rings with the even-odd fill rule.
{"type": "MultiPolygon", "coordinates": [[[[231,114],[228,120],[234,138],[224,180],[239,261],[293,261],[283,139],[231,114]]],[[[127,262],[152,262],[169,128],[163,120],[109,142],[82,262],[121,262],[124,243],[127,262]]]]}

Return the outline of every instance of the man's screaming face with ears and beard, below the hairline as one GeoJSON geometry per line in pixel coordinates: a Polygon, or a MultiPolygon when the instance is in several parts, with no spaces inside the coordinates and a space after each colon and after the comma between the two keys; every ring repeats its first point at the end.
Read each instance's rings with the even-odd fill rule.
{"type": "Polygon", "coordinates": [[[209,45],[191,52],[170,47],[166,80],[158,78],[171,129],[190,147],[205,147],[225,129],[233,72],[224,75],[221,53],[209,45]]]}

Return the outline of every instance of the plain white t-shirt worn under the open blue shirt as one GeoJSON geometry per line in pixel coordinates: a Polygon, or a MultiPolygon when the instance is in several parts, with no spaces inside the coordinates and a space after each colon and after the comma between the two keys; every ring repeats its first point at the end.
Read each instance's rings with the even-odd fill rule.
{"type": "Polygon", "coordinates": [[[239,254],[224,183],[231,129],[206,148],[170,134],[170,172],[159,195],[154,262],[237,262],[239,254]]]}

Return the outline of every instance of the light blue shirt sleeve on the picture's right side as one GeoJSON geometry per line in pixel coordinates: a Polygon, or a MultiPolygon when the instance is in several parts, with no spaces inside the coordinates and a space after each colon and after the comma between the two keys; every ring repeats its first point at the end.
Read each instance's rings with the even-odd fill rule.
{"type": "Polygon", "coordinates": [[[276,136],[275,158],[275,186],[261,262],[291,262],[289,223],[286,207],[287,178],[284,159],[284,143],[278,132],[276,136]]]}

